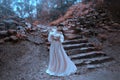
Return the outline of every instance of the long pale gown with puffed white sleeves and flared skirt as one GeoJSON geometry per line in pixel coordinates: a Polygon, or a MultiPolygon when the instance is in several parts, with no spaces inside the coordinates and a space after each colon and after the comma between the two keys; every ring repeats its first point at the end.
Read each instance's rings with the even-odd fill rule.
{"type": "Polygon", "coordinates": [[[49,33],[48,41],[51,43],[49,52],[49,65],[46,73],[54,76],[68,76],[75,73],[76,65],[67,56],[62,42],[64,36],[62,33],[49,33]]]}

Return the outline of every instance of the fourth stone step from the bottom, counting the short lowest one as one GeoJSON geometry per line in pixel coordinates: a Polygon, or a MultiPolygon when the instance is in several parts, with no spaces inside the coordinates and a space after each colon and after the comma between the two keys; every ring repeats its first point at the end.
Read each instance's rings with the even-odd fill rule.
{"type": "Polygon", "coordinates": [[[80,48],[80,49],[73,49],[73,50],[68,50],[66,51],[66,53],[68,55],[75,55],[75,54],[80,54],[80,53],[87,53],[87,52],[91,52],[91,51],[100,51],[101,49],[97,48],[97,47],[84,47],[84,48],[80,48]]]}

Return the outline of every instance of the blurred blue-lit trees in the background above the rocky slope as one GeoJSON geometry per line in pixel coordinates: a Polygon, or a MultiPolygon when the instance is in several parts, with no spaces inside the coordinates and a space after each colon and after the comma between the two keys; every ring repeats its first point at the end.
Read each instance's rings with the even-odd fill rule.
{"type": "MultiPolygon", "coordinates": [[[[52,17],[51,20],[63,15],[69,6],[81,0],[1,0],[0,5],[13,11],[21,18],[41,18],[52,17]]],[[[5,13],[0,9],[1,14],[5,13]]],[[[7,12],[6,12],[7,13],[7,12]]],[[[50,19],[46,18],[46,19],[50,19]]]]}

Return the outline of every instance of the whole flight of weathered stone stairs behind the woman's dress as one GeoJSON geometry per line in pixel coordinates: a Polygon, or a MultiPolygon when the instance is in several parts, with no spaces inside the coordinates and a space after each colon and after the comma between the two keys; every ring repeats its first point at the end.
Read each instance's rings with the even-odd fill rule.
{"type": "MultiPolygon", "coordinates": [[[[94,43],[90,43],[87,38],[82,37],[80,32],[77,33],[78,30],[75,32],[76,29],[74,28],[64,31],[65,41],[62,44],[66,53],[78,68],[83,66],[87,69],[95,69],[113,61],[113,58],[106,55],[101,48],[96,47],[94,43]]],[[[47,37],[45,39],[47,41],[47,37]]],[[[49,50],[49,42],[46,42],[46,45],[49,50]]]]}

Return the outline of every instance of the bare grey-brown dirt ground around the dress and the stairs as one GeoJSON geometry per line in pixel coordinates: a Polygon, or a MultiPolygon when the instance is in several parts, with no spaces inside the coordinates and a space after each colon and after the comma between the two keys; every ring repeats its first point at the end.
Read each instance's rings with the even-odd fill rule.
{"type": "MultiPolygon", "coordinates": [[[[36,34],[38,32],[35,32],[36,34]]],[[[120,36],[119,32],[109,33],[103,43],[103,51],[115,59],[110,66],[71,74],[66,77],[50,76],[45,73],[49,52],[44,39],[39,36],[31,41],[7,42],[0,45],[0,80],[120,80],[120,36]],[[111,35],[112,34],[112,35],[111,35]],[[39,40],[40,44],[32,41],[39,40]]],[[[29,37],[32,34],[29,34],[29,37]]],[[[94,41],[94,38],[91,38],[94,41]]]]}

